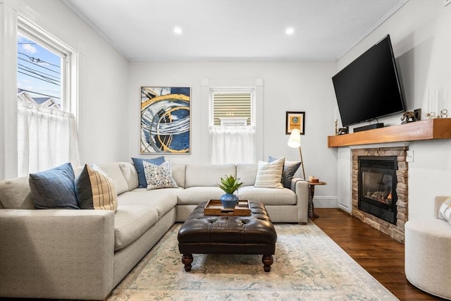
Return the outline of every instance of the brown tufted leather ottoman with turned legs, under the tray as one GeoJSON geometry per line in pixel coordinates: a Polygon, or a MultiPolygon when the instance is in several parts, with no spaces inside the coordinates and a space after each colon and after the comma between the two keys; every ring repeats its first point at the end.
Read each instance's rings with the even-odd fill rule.
{"type": "Polygon", "coordinates": [[[250,216],[204,216],[199,204],[178,231],[178,250],[185,271],[192,254],[263,254],[264,271],[271,271],[277,234],[264,204],[249,202],[250,216]]]}

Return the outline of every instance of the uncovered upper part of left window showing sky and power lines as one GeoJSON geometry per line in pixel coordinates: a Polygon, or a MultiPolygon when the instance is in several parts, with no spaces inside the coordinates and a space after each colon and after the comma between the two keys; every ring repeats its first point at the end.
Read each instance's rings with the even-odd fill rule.
{"type": "Polygon", "coordinates": [[[23,18],[17,36],[18,94],[77,116],[76,51],[23,18]]]}

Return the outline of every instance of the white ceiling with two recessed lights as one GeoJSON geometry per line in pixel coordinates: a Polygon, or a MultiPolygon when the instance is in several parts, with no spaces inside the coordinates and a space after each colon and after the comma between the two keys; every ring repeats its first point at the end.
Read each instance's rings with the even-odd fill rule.
{"type": "Polygon", "coordinates": [[[133,61],[322,61],[340,59],[407,0],[64,2],[133,61]]]}

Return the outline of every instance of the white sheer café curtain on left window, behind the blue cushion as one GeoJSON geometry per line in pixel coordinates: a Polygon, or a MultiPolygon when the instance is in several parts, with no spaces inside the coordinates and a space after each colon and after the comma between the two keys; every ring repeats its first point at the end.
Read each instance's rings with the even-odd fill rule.
{"type": "Polygon", "coordinates": [[[66,162],[80,166],[73,113],[18,101],[18,176],[66,162]]]}

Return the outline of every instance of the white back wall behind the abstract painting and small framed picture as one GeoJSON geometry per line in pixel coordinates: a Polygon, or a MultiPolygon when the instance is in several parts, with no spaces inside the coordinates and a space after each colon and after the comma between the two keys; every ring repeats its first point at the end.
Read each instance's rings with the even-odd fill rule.
{"type": "Polygon", "coordinates": [[[305,111],[302,155],[306,176],[314,175],[328,183],[316,190],[321,202],[336,206],[336,154],[327,148],[327,136],[334,133],[335,94],[331,77],[336,62],[130,62],[129,154],[139,154],[140,87],[191,87],[191,154],[166,154],[171,161],[208,163],[209,104],[201,97],[202,79],[263,79],[264,138],[263,157],[285,156],[298,161],[299,150],[287,146],[285,112],[305,111]]]}

